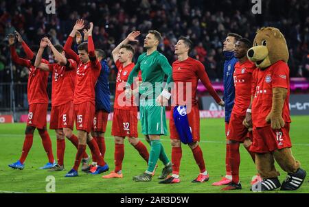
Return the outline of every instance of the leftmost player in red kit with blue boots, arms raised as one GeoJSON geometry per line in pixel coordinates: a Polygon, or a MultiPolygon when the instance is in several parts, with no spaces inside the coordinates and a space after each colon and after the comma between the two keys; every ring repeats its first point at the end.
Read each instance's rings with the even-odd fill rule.
{"type": "MultiPolygon", "coordinates": [[[[40,134],[42,138],[43,147],[49,160],[49,162],[47,162],[44,167],[41,167],[41,169],[49,169],[56,165],[52,151],[52,142],[46,130],[46,116],[48,107],[48,95],[46,88],[49,71],[41,71],[38,70],[36,66],[34,66],[34,53],[23,41],[21,35],[18,32],[15,31],[15,35],[17,36],[17,40],[21,42],[27,58],[19,58],[14,46],[14,34],[9,34],[8,40],[12,60],[16,64],[26,66],[30,71],[27,83],[29,113],[27,127],[25,129],[25,141],[23,143],[21,158],[19,158],[17,162],[9,165],[9,167],[12,167],[13,169],[24,169],[25,159],[27,158],[27,154],[32,147],[34,130],[38,129],[38,134],[40,134]]],[[[43,62],[48,63],[47,60],[43,60],[43,62]]]]}

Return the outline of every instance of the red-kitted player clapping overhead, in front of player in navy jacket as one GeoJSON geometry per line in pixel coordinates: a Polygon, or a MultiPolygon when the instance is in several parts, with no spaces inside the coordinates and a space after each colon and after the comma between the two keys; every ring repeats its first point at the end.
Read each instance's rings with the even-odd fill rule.
{"type": "Polygon", "coordinates": [[[95,47],[92,39],[93,23],[90,23],[90,28],[88,30],[88,43],[83,42],[78,46],[78,55],[71,50],[71,45],[73,38],[76,36],[76,32],[83,28],[84,21],[76,21],[64,47],[67,55],[73,60],[76,60],[78,64],[73,97],[76,129],[78,130],[78,151],[73,169],[71,169],[65,177],[78,176],[78,167],[87,144],[98,160],[98,168],[93,174],[102,173],[103,171],[106,171],[106,167],[108,168],[102,158],[98,143],[89,136],[93,125],[93,117],[95,115],[95,84],[98,81],[102,67],[98,58],[95,56],[95,47]]]}

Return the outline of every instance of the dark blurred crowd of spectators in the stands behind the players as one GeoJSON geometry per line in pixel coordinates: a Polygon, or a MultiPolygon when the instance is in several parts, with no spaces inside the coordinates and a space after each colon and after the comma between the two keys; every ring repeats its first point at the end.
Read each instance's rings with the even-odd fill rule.
{"type": "MultiPolygon", "coordinates": [[[[10,53],[6,36],[17,30],[28,45],[38,45],[45,34],[54,44],[64,44],[69,28],[79,18],[93,21],[93,40],[107,54],[110,80],[117,69],[111,60],[115,42],[133,30],[146,34],[157,29],[163,35],[159,51],[175,60],[174,44],[181,35],[194,42],[192,57],[205,65],[209,78],[222,80],[222,40],[229,32],[253,40],[259,27],[272,25],[285,35],[290,51],[290,76],[309,77],[309,16],[306,0],[262,1],[262,15],[253,14],[251,1],[117,0],[56,1],[56,14],[46,14],[45,1],[15,0],[0,3],[0,82],[10,82],[10,53]],[[278,8],[277,5],[281,7],[278,8]],[[284,9],[283,9],[284,8],[284,9]],[[211,12],[210,12],[211,11],[211,12]]],[[[139,38],[140,42],[144,36],[139,38]]],[[[137,56],[142,44],[135,45],[137,56]]],[[[21,46],[17,48],[18,51],[21,46]]],[[[22,50],[21,50],[22,52],[22,50]]],[[[23,56],[23,55],[22,55],[23,56]]],[[[47,56],[47,54],[45,54],[47,56]]],[[[50,58],[51,59],[51,58],[50,58]]],[[[14,68],[14,82],[27,82],[27,69],[14,68]]]]}

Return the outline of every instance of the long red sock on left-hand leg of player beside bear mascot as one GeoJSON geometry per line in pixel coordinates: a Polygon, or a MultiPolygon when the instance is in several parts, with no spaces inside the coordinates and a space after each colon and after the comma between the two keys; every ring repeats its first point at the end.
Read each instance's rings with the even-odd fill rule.
{"type": "Polygon", "coordinates": [[[231,143],[229,145],[229,164],[231,165],[232,181],[238,184],[240,165],[239,143],[231,143]]]}

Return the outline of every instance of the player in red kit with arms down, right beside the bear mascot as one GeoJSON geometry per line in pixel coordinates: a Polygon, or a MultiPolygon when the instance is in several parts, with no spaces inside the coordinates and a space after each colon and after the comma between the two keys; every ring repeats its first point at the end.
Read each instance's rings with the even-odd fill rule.
{"type": "Polygon", "coordinates": [[[227,145],[229,145],[229,151],[227,153],[229,154],[232,180],[225,188],[222,188],[222,191],[238,190],[242,188],[239,180],[240,143],[243,143],[244,147],[251,155],[253,162],[255,162],[255,153],[249,150],[253,140],[252,132],[249,132],[247,127],[242,125],[242,121],[246,117],[247,108],[251,101],[251,79],[253,70],[255,69],[255,64],[247,58],[247,51],[250,47],[250,40],[247,38],[240,38],[237,40],[234,49],[234,56],[238,58],[239,61],[236,62],[233,73],[236,93],[231,119],[227,127],[227,145]]]}

